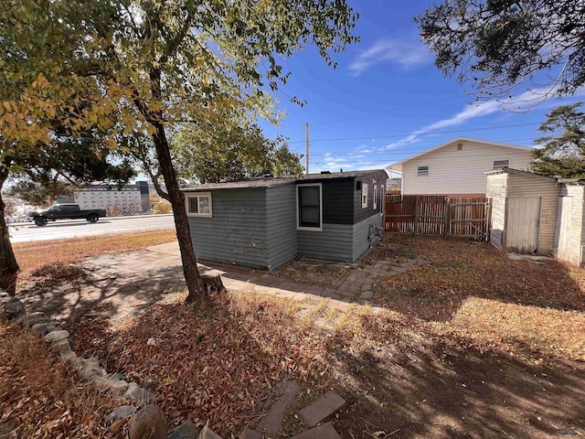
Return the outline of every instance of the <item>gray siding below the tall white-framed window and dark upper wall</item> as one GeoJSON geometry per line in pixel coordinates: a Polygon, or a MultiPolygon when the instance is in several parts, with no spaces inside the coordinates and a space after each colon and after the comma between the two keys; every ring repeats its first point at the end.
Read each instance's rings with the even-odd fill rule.
{"type": "Polygon", "coordinates": [[[354,226],[323,224],[323,231],[296,230],[297,252],[305,258],[353,262],[354,226]]]}

